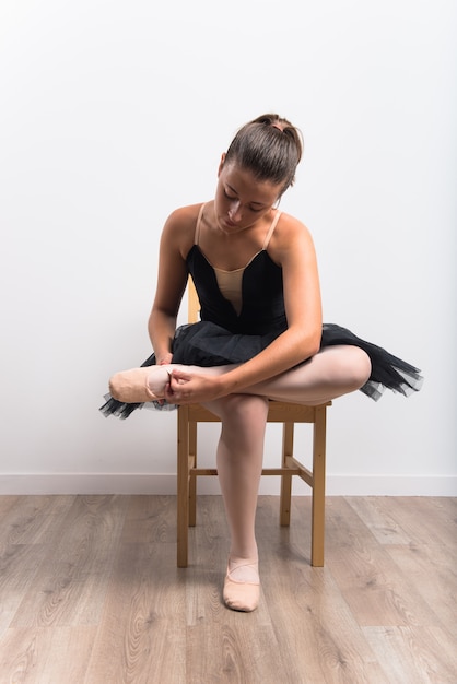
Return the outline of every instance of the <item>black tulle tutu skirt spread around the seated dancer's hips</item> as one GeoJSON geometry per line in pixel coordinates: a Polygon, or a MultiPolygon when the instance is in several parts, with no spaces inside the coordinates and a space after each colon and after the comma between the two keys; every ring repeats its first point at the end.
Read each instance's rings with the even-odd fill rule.
{"type": "MultiPolygon", "coordinates": [[[[245,363],[265,350],[277,337],[278,332],[258,335],[232,333],[210,321],[188,323],[176,330],[172,349],[173,363],[206,367],[245,363]]],[[[408,397],[422,386],[423,378],[420,370],[411,364],[372,342],[358,338],[347,328],[335,323],[324,323],[320,349],[336,344],[359,346],[370,356],[372,374],[360,391],[374,401],[380,398],[385,389],[408,397]]],[[[154,364],[155,356],[152,354],[141,366],[154,364]]],[[[144,405],[142,403],[126,404],[113,399],[109,394],[105,399],[106,402],[99,409],[105,416],[116,415],[127,418],[136,409],[144,405]]],[[[157,401],[148,402],[145,405],[152,405],[162,411],[175,408],[157,401]]]]}

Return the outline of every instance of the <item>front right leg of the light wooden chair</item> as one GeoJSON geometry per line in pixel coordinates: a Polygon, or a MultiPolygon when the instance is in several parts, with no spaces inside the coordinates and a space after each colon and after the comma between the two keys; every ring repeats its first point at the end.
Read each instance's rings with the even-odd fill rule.
{"type": "Polygon", "coordinates": [[[313,435],[312,554],[314,567],[324,566],[326,485],[326,406],[316,406],[313,435]]]}

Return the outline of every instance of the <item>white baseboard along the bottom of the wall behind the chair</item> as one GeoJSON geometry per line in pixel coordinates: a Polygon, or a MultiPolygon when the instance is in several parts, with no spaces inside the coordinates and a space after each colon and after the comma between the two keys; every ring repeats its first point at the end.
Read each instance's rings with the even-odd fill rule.
{"type": "MultiPolygon", "coordinates": [[[[279,495],[279,477],[262,477],[260,494],[279,495]]],[[[199,477],[199,494],[220,494],[216,477],[199,477]]],[[[309,487],[294,479],[293,494],[309,487]]],[[[454,475],[327,475],[328,496],[457,496],[454,475]]],[[[176,494],[176,475],[151,473],[27,473],[0,475],[0,495],[176,494]]]]}

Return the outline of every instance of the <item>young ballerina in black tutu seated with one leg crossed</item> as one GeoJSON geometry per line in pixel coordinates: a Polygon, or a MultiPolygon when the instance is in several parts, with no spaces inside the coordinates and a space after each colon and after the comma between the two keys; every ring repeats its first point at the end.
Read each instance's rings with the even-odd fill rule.
{"type": "Polygon", "coordinates": [[[149,319],[154,354],[109,382],[105,414],[142,402],[203,403],[222,422],[218,472],[231,547],[224,602],[259,601],[255,516],[268,400],[318,404],[356,389],[419,389],[417,368],[324,325],[306,226],[278,209],[302,157],[300,131],[276,114],[239,129],[222,154],[213,200],[174,211],[163,229],[149,319]],[[188,274],[201,321],[176,330],[188,274]],[[152,366],[151,364],[156,364],[152,366]]]}

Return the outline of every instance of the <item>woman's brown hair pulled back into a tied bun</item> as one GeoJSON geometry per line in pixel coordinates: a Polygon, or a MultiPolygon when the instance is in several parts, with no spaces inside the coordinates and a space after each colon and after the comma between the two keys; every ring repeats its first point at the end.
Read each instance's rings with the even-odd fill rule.
{"type": "Polygon", "coordinates": [[[300,130],[288,119],[263,114],[238,130],[224,163],[236,162],[259,180],[282,184],[282,194],[294,182],[303,154],[302,140],[300,130]]]}

